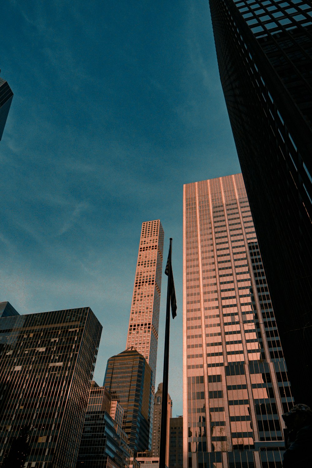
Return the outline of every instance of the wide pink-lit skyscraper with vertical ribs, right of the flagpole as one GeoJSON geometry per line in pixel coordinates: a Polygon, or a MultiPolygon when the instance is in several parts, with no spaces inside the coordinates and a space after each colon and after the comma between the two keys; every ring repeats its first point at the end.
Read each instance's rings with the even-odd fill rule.
{"type": "Polygon", "coordinates": [[[281,468],[293,399],[241,174],[183,205],[184,467],[281,468]]]}

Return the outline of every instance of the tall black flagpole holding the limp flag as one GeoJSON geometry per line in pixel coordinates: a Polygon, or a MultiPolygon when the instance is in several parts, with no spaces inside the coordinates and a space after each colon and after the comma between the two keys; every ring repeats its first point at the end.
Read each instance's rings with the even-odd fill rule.
{"type": "MultiPolygon", "coordinates": [[[[168,371],[169,371],[169,332],[170,332],[170,282],[171,282],[171,249],[172,238],[169,245],[169,271],[167,285],[167,307],[166,307],[166,328],[165,347],[163,353],[163,401],[162,401],[162,421],[160,426],[160,446],[159,446],[159,468],[166,466],[166,439],[167,439],[167,406],[168,406],[168,371]]],[[[169,441],[168,441],[169,443],[169,441]]]]}

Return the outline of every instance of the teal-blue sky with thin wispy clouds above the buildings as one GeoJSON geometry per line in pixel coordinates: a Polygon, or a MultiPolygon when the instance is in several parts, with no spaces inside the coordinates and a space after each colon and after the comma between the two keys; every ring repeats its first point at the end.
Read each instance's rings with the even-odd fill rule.
{"type": "Polygon", "coordinates": [[[173,238],[169,393],[182,415],[183,184],[240,172],[208,1],[1,10],[1,77],[14,97],[0,142],[0,301],[20,314],[91,307],[101,385],[126,347],[142,222],[160,219],[164,259],[173,238]]]}

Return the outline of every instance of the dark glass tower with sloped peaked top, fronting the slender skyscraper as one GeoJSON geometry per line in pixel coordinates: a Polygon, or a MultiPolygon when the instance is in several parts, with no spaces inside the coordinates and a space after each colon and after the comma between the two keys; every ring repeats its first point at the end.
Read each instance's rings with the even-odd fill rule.
{"type": "Polygon", "coordinates": [[[104,387],[124,409],[122,429],[128,435],[129,446],[135,453],[148,450],[151,445],[151,373],[146,359],[134,348],[107,361],[104,387]]]}

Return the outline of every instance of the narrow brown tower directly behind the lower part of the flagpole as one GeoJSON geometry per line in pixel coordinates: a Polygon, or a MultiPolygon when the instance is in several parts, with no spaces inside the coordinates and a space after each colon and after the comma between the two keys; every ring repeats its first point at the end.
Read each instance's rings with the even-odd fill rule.
{"type": "MultiPolygon", "coordinates": [[[[162,404],[163,404],[163,383],[158,385],[154,397],[154,417],[153,417],[153,434],[152,434],[152,457],[159,457],[160,449],[160,429],[162,425],[162,404]]],[[[172,400],[168,393],[167,396],[167,444],[166,444],[166,465],[169,466],[169,426],[170,417],[172,417],[172,400]]]]}

